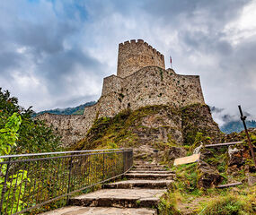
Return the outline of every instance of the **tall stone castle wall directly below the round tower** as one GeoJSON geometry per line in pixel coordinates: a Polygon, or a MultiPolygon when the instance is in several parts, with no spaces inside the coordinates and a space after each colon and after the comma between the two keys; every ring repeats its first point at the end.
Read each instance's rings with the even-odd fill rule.
{"type": "Polygon", "coordinates": [[[111,75],[103,86],[97,103],[100,116],[115,116],[125,108],[205,103],[198,75],[180,75],[158,66],[144,67],[125,78],[111,75]],[[118,82],[118,87],[113,82],[118,82]]]}

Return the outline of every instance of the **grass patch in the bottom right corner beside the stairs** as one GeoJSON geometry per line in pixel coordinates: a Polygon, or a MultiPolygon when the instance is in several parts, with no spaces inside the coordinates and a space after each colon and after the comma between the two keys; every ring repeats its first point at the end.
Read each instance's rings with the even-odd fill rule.
{"type": "Polygon", "coordinates": [[[240,185],[225,189],[210,188],[205,191],[195,189],[189,192],[172,186],[159,204],[159,214],[198,215],[249,215],[256,214],[256,185],[240,185]]]}

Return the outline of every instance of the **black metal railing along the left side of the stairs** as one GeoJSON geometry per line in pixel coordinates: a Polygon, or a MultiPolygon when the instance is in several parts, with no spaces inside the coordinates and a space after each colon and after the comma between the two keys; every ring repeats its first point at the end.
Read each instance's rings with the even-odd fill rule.
{"type": "Polygon", "coordinates": [[[0,214],[21,214],[125,174],[132,149],[0,156],[0,214]]]}

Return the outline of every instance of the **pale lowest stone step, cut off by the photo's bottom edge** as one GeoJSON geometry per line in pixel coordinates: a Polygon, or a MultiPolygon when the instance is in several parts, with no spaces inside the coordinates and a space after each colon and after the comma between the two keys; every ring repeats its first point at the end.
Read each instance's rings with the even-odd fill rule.
{"type": "Polygon", "coordinates": [[[108,208],[108,207],[81,207],[69,206],[54,211],[41,213],[40,215],[156,215],[155,209],[146,208],[108,208]]]}

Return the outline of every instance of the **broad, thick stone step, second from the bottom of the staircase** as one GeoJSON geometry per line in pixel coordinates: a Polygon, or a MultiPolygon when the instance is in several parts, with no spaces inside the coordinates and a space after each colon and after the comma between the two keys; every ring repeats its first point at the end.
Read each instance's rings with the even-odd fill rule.
{"type": "Polygon", "coordinates": [[[157,207],[165,189],[102,189],[69,200],[70,205],[85,207],[157,207]]]}

